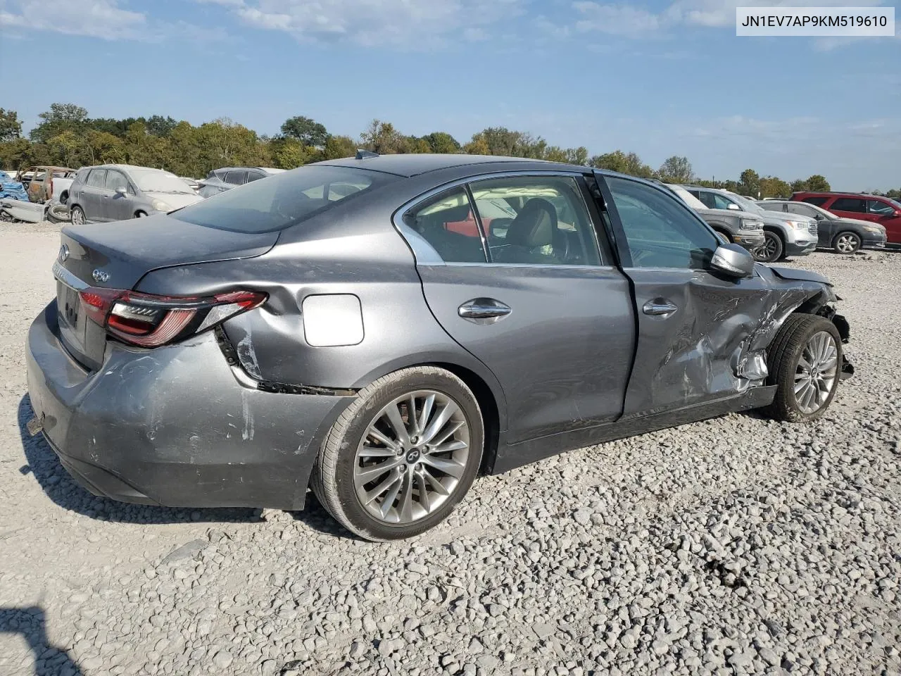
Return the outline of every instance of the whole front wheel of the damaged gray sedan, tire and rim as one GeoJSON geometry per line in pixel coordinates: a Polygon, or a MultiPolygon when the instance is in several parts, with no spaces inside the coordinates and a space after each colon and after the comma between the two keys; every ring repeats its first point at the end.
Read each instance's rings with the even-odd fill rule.
{"type": "Polygon", "coordinates": [[[789,315],[769,346],[767,366],[767,384],[778,386],[769,416],[789,423],[815,420],[832,403],[841,378],[838,329],[817,315],[789,315]],[[806,379],[811,367],[815,377],[806,379]]]}

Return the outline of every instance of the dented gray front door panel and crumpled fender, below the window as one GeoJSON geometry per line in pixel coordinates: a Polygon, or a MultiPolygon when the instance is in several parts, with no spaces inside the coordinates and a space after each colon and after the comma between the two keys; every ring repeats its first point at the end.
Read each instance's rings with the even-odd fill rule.
{"type": "Polygon", "coordinates": [[[626,272],[633,280],[639,324],[626,419],[759,387],[768,375],[766,349],[787,316],[832,296],[822,282],[789,281],[765,266],[751,279],[737,281],[704,270],[626,272]],[[643,311],[645,304],[663,302],[677,309],[669,315],[643,311]]]}

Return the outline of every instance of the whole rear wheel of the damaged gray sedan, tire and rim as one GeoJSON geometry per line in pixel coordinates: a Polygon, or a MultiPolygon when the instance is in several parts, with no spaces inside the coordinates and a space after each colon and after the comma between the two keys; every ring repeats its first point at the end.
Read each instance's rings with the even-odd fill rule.
{"type": "Polygon", "coordinates": [[[373,542],[399,540],[421,534],[451,514],[476,478],[483,446],[478,401],[462,380],[432,366],[399,370],[362,389],[341,413],[323,442],[311,483],[320,504],[351,533],[373,542]],[[409,416],[406,423],[403,420],[411,395],[414,425],[409,416]],[[432,396],[425,425],[420,425],[426,400],[432,396]],[[445,408],[449,402],[456,410],[445,408]],[[389,425],[392,408],[410,439],[389,447],[386,442],[395,443],[402,436],[389,425]],[[442,423],[441,417],[447,415],[451,417],[442,423]],[[438,448],[451,448],[436,452],[423,441],[413,443],[421,426],[424,433],[431,430],[438,448]],[[372,430],[381,439],[372,436],[372,430]],[[449,430],[450,436],[442,439],[449,430]],[[378,471],[382,465],[388,469],[378,471]]]}

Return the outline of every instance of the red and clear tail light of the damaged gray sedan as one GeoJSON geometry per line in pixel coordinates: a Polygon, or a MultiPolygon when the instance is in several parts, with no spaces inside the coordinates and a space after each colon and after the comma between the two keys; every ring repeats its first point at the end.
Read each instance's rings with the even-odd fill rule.
{"type": "Polygon", "coordinates": [[[259,307],[266,294],[231,291],[211,297],[153,296],[115,288],[79,292],[85,313],[123,343],[159,347],[202,333],[226,319],[259,307]]]}

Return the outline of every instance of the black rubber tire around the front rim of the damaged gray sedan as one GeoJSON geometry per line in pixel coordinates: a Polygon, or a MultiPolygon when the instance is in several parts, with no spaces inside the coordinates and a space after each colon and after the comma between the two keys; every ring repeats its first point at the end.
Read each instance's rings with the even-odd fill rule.
{"type": "MultiPolygon", "coordinates": [[[[808,352],[809,354],[809,352],[808,352]]],[[[806,360],[805,360],[806,361],[806,360]]],[[[817,315],[789,315],[782,324],[767,351],[769,368],[768,385],[776,385],[776,398],[767,409],[770,417],[788,423],[806,423],[823,416],[835,397],[842,372],[842,338],[835,324],[817,315]],[[806,410],[795,394],[796,378],[805,372],[801,358],[808,350],[808,342],[817,334],[827,333],[832,337],[835,349],[835,366],[831,387],[815,410],[806,410]]],[[[802,391],[803,396],[803,391],[802,391]]]]}

